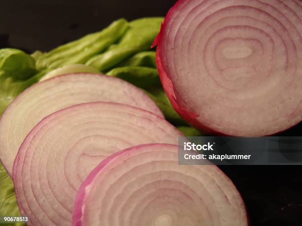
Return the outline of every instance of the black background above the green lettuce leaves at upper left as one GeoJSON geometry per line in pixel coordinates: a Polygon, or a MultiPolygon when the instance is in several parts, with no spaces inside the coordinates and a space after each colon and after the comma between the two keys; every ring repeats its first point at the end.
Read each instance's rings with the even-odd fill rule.
{"type": "Polygon", "coordinates": [[[0,48],[48,51],[113,20],[164,16],[175,0],[0,0],[0,48]]]}

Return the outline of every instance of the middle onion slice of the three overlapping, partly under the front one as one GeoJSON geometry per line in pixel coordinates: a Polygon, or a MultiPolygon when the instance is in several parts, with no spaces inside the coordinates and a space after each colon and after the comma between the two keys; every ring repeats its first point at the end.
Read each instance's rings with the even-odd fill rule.
{"type": "Polygon", "coordinates": [[[18,206],[31,226],[70,226],[76,193],[113,153],[146,143],[177,144],[179,130],[140,108],[83,103],[44,118],[21,145],[13,167],[18,206]]]}

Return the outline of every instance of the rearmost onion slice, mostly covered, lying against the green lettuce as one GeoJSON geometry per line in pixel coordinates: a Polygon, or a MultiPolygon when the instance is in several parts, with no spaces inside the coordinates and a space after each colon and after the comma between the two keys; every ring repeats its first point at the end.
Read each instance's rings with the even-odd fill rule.
{"type": "Polygon", "coordinates": [[[0,160],[8,173],[24,138],[41,119],[65,107],[94,101],[124,103],[164,117],[143,91],[117,78],[78,73],[48,79],[24,91],[0,120],[0,160]]]}

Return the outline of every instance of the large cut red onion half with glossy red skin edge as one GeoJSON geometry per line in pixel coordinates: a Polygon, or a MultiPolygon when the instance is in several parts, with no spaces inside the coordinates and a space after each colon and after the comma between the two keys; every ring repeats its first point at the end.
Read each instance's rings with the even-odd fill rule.
{"type": "Polygon", "coordinates": [[[199,129],[261,136],[302,119],[299,0],[179,0],[157,43],[175,110],[199,129]]]}

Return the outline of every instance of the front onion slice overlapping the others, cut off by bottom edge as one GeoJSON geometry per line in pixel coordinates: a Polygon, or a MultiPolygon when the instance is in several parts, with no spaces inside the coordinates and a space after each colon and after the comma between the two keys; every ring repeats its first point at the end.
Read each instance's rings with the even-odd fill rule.
{"type": "Polygon", "coordinates": [[[76,196],[73,226],[247,226],[215,165],[179,165],[178,146],[131,147],[102,161],[76,196]]]}

